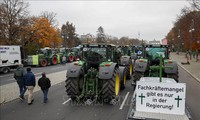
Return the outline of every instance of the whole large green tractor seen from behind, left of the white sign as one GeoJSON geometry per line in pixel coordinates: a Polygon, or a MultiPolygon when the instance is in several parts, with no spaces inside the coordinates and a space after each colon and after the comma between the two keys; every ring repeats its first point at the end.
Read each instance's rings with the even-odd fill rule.
{"type": "Polygon", "coordinates": [[[81,58],[67,67],[67,95],[76,101],[115,101],[126,84],[125,67],[118,65],[116,46],[83,44],[81,58]]]}

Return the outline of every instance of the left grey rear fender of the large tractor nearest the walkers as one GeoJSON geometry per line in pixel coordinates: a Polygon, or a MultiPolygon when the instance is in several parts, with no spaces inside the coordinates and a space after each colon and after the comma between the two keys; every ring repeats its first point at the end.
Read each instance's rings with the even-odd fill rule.
{"type": "Polygon", "coordinates": [[[80,65],[74,65],[74,62],[69,63],[69,66],[67,67],[67,77],[78,77],[80,75],[80,72],[83,69],[83,66],[80,65]]]}

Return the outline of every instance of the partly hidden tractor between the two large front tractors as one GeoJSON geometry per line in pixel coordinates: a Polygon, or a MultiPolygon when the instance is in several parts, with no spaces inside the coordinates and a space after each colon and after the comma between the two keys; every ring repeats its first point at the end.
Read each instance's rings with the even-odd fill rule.
{"type": "Polygon", "coordinates": [[[131,59],[130,47],[129,46],[118,46],[117,50],[121,54],[119,65],[125,66],[126,76],[128,79],[131,79],[131,76],[133,74],[134,60],[131,59]]]}

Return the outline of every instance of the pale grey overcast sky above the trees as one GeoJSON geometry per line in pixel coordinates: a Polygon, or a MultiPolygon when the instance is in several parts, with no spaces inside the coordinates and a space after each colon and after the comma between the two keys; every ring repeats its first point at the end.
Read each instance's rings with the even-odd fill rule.
{"type": "Polygon", "coordinates": [[[96,35],[99,26],[106,34],[148,41],[163,39],[173,27],[173,22],[186,0],[146,1],[28,1],[32,15],[42,11],[57,14],[59,28],[67,21],[72,22],[79,35],[96,35]],[[139,34],[140,33],[140,36],[139,34]]]}

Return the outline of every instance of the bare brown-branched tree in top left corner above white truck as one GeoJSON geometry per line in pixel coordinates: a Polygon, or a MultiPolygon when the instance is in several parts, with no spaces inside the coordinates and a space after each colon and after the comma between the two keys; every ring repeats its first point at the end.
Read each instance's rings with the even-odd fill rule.
{"type": "Polygon", "coordinates": [[[21,42],[20,22],[27,16],[28,3],[23,0],[4,0],[0,3],[0,41],[1,44],[19,44],[21,42]]]}

